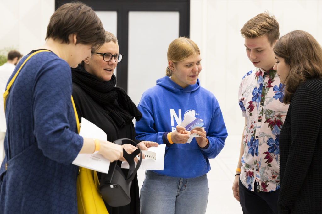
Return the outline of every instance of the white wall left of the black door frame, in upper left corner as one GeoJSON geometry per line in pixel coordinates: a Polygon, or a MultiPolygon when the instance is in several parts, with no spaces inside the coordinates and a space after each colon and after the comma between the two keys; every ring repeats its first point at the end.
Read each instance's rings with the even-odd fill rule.
{"type": "Polygon", "coordinates": [[[0,49],[26,55],[42,46],[54,11],[54,0],[0,0],[0,49]]]}

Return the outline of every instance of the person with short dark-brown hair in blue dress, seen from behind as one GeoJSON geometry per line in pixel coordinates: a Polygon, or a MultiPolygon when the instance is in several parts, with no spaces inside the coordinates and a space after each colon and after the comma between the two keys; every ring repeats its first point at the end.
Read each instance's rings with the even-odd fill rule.
{"type": "Polygon", "coordinates": [[[14,73],[44,50],[24,64],[6,99],[0,213],[77,213],[76,156],[98,152],[110,161],[123,156],[120,145],[77,134],[71,101],[71,67],[104,42],[103,25],[89,6],[63,4],[50,18],[45,44],[17,64],[14,73]]]}

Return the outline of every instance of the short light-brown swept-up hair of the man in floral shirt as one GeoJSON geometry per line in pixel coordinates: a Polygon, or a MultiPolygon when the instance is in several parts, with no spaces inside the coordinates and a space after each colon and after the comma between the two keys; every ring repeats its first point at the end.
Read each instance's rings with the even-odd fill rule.
{"type": "Polygon", "coordinates": [[[265,11],[251,18],[244,24],[241,29],[241,34],[244,38],[256,38],[267,35],[270,45],[279,39],[279,23],[275,16],[265,11]]]}

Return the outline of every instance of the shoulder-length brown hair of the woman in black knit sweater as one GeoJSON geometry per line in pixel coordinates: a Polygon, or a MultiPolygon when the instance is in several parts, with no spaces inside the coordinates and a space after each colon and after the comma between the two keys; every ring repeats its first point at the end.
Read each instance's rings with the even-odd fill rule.
{"type": "Polygon", "coordinates": [[[276,42],[273,50],[275,55],[283,58],[290,67],[284,82],[284,103],[291,102],[300,84],[309,79],[322,78],[322,48],[308,32],[289,32],[276,42]]]}

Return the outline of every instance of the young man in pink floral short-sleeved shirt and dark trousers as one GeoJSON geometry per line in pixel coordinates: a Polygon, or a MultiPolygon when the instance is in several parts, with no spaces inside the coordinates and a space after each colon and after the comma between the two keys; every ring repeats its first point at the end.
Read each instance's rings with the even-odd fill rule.
{"type": "Polygon", "coordinates": [[[289,107],[283,103],[284,85],[273,70],[279,24],[268,12],[260,13],[241,33],[255,68],[245,74],[239,88],[245,127],[232,190],[243,213],[278,213],[279,132],[289,107]]]}

